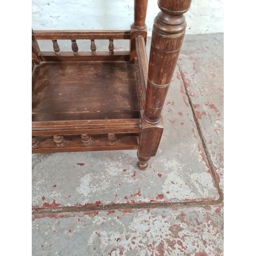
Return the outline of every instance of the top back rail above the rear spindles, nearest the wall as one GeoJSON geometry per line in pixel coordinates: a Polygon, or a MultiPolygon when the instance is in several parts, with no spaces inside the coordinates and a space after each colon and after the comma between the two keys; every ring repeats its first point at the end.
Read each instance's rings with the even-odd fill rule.
{"type": "Polygon", "coordinates": [[[130,30],[33,30],[32,34],[32,40],[130,38],[130,30]]]}

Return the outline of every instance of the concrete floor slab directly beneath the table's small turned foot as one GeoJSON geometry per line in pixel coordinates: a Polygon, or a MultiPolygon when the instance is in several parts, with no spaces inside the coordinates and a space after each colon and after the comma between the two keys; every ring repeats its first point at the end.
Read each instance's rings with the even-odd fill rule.
{"type": "Polygon", "coordinates": [[[33,206],[217,200],[180,77],[177,68],[163,109],[163,137],[147,170],[137,168],[136,151],[33,155],[33,206]]]}

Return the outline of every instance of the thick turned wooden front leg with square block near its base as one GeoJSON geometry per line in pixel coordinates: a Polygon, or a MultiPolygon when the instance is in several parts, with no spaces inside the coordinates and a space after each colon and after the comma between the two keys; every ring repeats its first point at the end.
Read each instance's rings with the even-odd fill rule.
{"type": "Polygon", "coordinates": [[[145,109],[141,111],[138,158],[153,157],[163,133],[162,109],[185,35],[191,0],[158,0],[161,11],[154,20],[145,109]]]}

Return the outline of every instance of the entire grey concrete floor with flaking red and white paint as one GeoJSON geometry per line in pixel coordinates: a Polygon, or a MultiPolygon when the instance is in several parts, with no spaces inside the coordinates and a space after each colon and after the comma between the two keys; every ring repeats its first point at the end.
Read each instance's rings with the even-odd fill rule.
{"type": "Polygon", "coordinates": [[[145,171],[136,151],[32,156],[32,255],[223,255],[223,34],[185,37],[163,117],[145,171]]]}

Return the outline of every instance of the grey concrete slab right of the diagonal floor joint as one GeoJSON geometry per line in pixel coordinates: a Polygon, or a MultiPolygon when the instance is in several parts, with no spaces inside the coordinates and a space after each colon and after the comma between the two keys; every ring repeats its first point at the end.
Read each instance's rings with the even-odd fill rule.
{"type": "Polygon", "coordinates": [[[178,66],[223,189],[223,34],[188,35],[178,66]]]}

